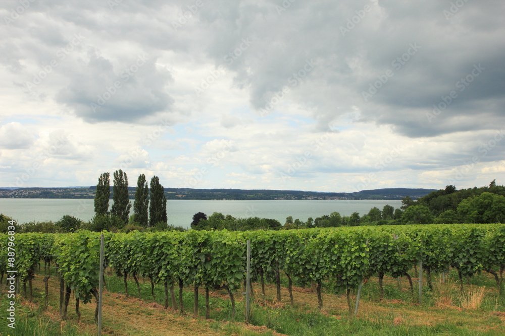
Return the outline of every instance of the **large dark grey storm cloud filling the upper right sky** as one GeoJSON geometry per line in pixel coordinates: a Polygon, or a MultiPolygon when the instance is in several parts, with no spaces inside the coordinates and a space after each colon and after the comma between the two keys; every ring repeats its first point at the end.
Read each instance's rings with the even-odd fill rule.
{"type": "Polygon", "coordinates": [[[236,72],[237,83],[249,87],[255,109],[264,108],[307,59],[314,59],[313,76],[292,91],[299,104],[317,109],[318,119],[331,120],[348,112],[349,105],[359,105],[365,119],[391,124],[410,137],[503,121],[505,43],[500,36],[505,24],[496,13],[505,10],[504,3],[284,3],[220,2],[204,7],[199,16],[214,32],[207,50],[218,64],[241,38],[255,39],[236,61],[225,64],[236,72]],[[388,71],[387,82],[375,84],[388,71]],[[324,99],[311,99],[322,91],[324,99]],[[426,114],[440,102],[443,107],[452,91],[456,98],[430,122],[426,114]],[[475,115],[476,106],[487,120],[455,122],[455,116],[475,115]]]}

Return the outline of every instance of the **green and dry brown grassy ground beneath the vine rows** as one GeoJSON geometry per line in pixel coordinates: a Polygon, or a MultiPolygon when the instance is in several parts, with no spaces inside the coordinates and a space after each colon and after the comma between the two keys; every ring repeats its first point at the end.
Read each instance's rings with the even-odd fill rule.
{"type": "MultiPolygon", "coordinates": [[[[423,287],[423,301],[417,303],[417,283],[414,297],[406,279],[384,278],[384,298],[379,299],[378,281],[370,279],[363,285],[360,310],[349,316],[344,292],[331,286],[323,288],[323,309],[317,309],[317,296],[307,288],[294,288],[294,307],[289,306],[287,288],[282,288],[281,303],[275,302],[275,287],[266,286],[266,296],[254,285],[250,324],[244,323],[243,296],[236,294],[236,316],[231,322],[231,302],[226,291],[211,292],[211,319],[205,319],[205,295],[200,290],[199,318],[192,318],[193,291],[185,289],[185,314],[164,309],[164,288],[155,287],[156,302],[151,302],[150,284],[140,280],[141,299],[133,280],[128,281],[127,297],[123,280],[106,277],[104,295],[104,332],[114,335],[502,335],[505,334],[505,297],[496,289],[486,273],[465,280],[464,292],[455,272],[445,281],[434,276],[430,291],[423,287]]],[[[6,328],[5,317],[0,323],[2,335],[81,335],[96,334],[93,321],[95,304],[81,304],[81,322],[76,323],[73,299],[69,304],[67,322],[58,316],[59,282],[49,279],[49,307],[43,310],[43,283],[34,281],[34,303],[19,299],[16,306],[16,333],[6,328]]],[[[416,281],[417,279],[413,279],[416,281]]],[[[3,287],[3,286],[2,286],[3,287]]],[[[353,293],[355,295],[356,293],[353,293]]],[[[355,296],[353,296],[355,299],[355,296]]],[[[7,309],[6,294],[0,309],[7,309]]],[[[5,316],[5,314],[4,314],[5,316]]],[[[10,329],[10,328],[9,328],[10,329]]]]}

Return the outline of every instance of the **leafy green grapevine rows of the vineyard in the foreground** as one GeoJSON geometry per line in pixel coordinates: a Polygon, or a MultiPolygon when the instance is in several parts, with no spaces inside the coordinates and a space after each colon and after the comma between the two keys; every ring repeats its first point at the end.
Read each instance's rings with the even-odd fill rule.
{"type": "MultiPolygon", "coordinates": [[[[9,267],[7,246],[12,234],[0,236],[2,281],[9,267]]],[[[15,270],[28,297],[31,282],[45,267],[57,267],[60,281],[60,312],[65,319],[71,292],[79,303],[98,299],[100,234],[80,231],[73,234],[16,234],[15,270]],[[28,289],[26,289],[28,286],[28,289]]],[[[148,279],[151,293],[155,286],[165,289],[165,307],[198,316],[198,289],[205,289],[206,317],[209,317],[209,291],[225,290],[235,314],[235,296],[241,294],[245,280],[245,243],[251,245],[251,277],[265,295],[265,284],[276,288],[281,300],[281,275],[287,278],[291,305],[293,284],[312,286],[319,308],[324,302],[321,288],[343,290],[349,312],[351,293],[360,284],[378,279],[383,296],[385,275],[405,277],[413,293],[418,267],[432,288],[432,275],[454,269],[464,290],[465,279],[486,272],[502,291],[505,270],[505,225],[424,225],[305,229],[283,231],[187,231],[128,234],[105,232],[105,265],[124,280],[125,293],[138,291],[139,279],[148,279]],[[415,271],[416,270],[416,271],[415,271]],[[136,289],[128,288],[127,277],[136,289]],[[194,290],[194,306],[183,307],[184,288],[194,290]],[[177,293],[178,292],[178,293],[177,293]],[[179,299],[177,299],[177,297],[179,299]]],[[[42,271],[43,272],[43,271],[42,271]]],[[[295,293],[296,294],[296,293],[295,293]]],[[[98,307],[97,307],[98,309],[98,307]]],[[[96,310],[97,313],[97,310],[96,310]]],[[[96,315],[95,315],[96,316],[96,315]]]]}

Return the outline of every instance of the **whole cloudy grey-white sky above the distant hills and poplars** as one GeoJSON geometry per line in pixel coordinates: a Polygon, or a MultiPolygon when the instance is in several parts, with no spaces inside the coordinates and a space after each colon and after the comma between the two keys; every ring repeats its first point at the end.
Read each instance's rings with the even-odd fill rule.
{"type": "Polygon", "coordinates": [[[505,180],[502,0],[0,0],[0,187],[505,180]],[[112,184],[112,181],[111,181],[112,184]]]}

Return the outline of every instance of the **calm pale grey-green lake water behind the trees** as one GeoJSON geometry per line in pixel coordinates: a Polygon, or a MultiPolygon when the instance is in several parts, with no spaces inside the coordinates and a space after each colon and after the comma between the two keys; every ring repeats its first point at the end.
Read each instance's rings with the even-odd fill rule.
{"type": "MultiPolygon", "coordinates": [[[[386,204],[396,209],[401,206],[401,200],[167,200],[167,215],[170,224],[183,227],[189,227],[197,212],[208,216],[220,212],[237,218],[272,218],[284,224],[287,216],[304,222],[309,217],[316,219],[334,211],[342,216],[353,212],[362,216],[373,207],[382,210],[386,204]]],[[[55,222],[63,215],[88,221],[94,216],[94,205],[93,199],[0,198],[0,213],[19,223],[55,222]]]]}

